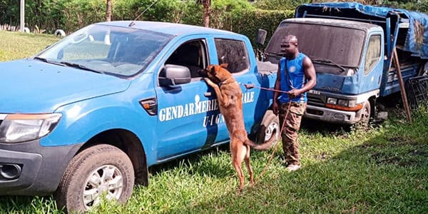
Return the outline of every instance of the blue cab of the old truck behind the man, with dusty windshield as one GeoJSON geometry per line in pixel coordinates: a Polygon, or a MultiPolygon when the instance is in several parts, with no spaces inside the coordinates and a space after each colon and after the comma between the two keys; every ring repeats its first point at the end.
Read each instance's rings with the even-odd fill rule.
{"type": "Polygon", "coordinates": [[[299,50],[312,59],[317,72],[317,85],[307,95],[306,117],[339,123],[360,120],[367,98],[379,96],[382,28],[347,20],[286,19],[267,45],[269,61],[282,57],[274,53],[287,34],[297,36],[299,50]]]}

